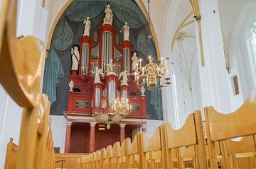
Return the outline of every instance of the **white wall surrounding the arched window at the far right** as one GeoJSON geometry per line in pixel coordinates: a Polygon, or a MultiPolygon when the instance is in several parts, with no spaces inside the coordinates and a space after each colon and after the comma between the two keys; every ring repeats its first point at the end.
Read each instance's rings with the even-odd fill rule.
{"type": "Polygon", "coordinates": [[[245,102],[252,88],[256,86],[256,69],[250,47],[250,26],[256,20],[254,0],[219,1],[225,46],[230,62],[230,81],[238,76],[240,93],[230,93],[232,110],[237,110],[245,102]]]}

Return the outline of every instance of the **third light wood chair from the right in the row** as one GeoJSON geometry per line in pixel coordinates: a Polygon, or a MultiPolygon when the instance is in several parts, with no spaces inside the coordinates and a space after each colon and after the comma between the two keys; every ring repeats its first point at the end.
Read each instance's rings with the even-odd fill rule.
{"type": "Polygon", "coordinates": [[[147,138],[146,133],[139,135],[139,168],[166,168],[163,145],[164,132],[157,127],[154,135],[147,138]]]}

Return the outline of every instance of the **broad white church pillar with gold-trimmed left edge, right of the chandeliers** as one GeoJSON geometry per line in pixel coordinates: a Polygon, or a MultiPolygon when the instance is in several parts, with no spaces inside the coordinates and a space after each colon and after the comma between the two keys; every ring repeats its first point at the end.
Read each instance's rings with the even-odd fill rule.
{"type": "Polygon", "coordinates": [[[195,22],[201,21],[201,29],[200,24],[196,23],[195,26],[202,110],[211,105],[221,112],[230,112],[232,89],[225,65],[218,0],[201,0],[200,12],[201,16],[196,16],[195,22]],[[202,43],[199,30],[202,30],[202,43]],[[203,53],[200,47],[203,47],[203,53]]]}

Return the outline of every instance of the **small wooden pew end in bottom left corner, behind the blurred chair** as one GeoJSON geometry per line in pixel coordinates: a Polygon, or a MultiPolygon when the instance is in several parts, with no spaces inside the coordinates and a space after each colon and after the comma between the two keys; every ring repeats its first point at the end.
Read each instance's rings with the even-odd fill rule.
{"type": "Polygon", "coordinates": [[[14,139],[11,138],[6,148],[6,159],[4,163],[4,169],[15,168],[17,154],[18,146],[14,144],[14,139]]]}

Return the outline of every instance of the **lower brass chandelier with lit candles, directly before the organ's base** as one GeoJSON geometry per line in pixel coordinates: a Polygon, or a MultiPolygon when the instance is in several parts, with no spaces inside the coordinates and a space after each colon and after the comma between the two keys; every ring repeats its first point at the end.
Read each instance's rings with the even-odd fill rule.
{"type": "Polygon", "coordinates": [[[114,102],[110,102],[110,107],[108,110],[93,112],[92,117],[95,117],[97,122],[113,124],[130,115],[131,111],[132,105],[128,104],[128,100],[124,100],[124,98],[117,98],[114,100],[114,102]]]}

